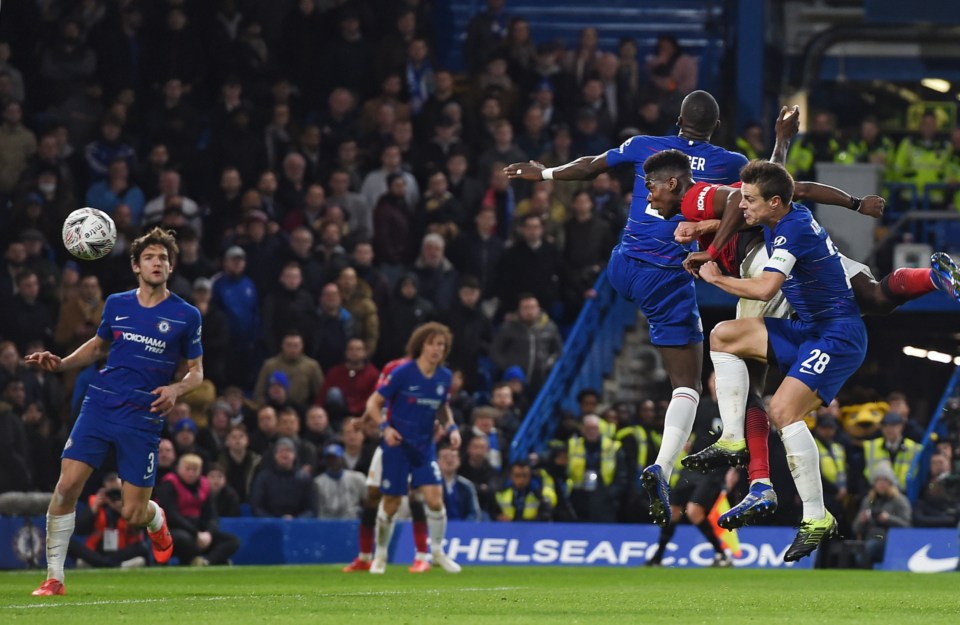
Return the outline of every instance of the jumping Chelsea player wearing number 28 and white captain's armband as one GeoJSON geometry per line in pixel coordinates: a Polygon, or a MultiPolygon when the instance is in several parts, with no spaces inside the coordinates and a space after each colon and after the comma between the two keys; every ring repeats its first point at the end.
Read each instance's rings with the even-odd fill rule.
{"type": "MultiPolygon", "coordinates": [[[[755,161],[740,176],[740,208],[748,225],[764,226],[769,260],[754,278],[724,276],[714,262],[700,268],[700,277],[748,299],[768,301],[782,291],[796,312],[796,319],[724,321],[710,335],[718,377],[728,365],[742,368],[743,359],[765,362],[768,354],[786,375],[770,402],[769,416],[780,432],[803,502],[800,531],[784,554],[784,560],[792,562],[812,553],[837,527],[824,507],[819,453],[803,417],[829,404],[861,365],[867,332],[829,234],[806,207],[791,203],[794,184],[787,170],[755,161]]],[[[721,411],[728,408],[720,405],[721,411]]],[[[740,415],[721,417],[726,422],[740,415]]]]}

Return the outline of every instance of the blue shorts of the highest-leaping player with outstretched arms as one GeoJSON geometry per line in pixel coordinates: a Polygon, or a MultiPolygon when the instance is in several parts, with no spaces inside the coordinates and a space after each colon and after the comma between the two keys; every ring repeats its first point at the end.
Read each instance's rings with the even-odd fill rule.
{"type": "Polygon", "coordinates": [[[650,324],[650,343],[676,347],[703,342],[693,276],[683,268],[665,269],[626,256],[613,248],[607,264],[610,284],[636,302],[650,324]]]}

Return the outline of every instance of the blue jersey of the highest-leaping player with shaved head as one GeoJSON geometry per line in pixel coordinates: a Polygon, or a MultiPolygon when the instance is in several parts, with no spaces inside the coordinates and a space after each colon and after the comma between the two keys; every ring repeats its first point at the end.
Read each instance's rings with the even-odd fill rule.
{"type": "Polygon", "coordinates": [[[663,150],[680,150],[689,156],[693,179],[711,184],[738,182],[747,158],[709,143],[675,135],[637,135],[627,139],[620,147],[607,151],[607,165],[614,167],[621,163],[634,163],[636,172],[630,214],[620,239],[621,250],[627,256],[653,265],[676,268],[683,263],[691,249],[689,245],[681,245],[673,240],[677,222],[683,221],[683,217],[677,215],[668,220],[661,217],[647,203],[647,189],[643,185],[643,162],[663,150]]]}

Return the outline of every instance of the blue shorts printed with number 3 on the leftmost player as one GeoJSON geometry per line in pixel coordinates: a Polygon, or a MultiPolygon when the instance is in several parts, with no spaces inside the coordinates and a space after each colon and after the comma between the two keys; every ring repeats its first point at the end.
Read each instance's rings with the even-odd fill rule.
{"type": "MultiPolygon", "coordinates": [[[[120,479],[134,486],[152,487],[157,479],[160,426],[153,431],[108,421],[104,418],[105,410],[111,413],[120,412],[116,408],[103,408],[90,396],[84,398],[80,406],[80,416],[73,424],[61,457],[78,460],[99,469],[110,447],[113,447],[117,453],[120,479]]],[[[142,420],[145,415],[136,411],[135,415],[129,416],[142,420]]]]}

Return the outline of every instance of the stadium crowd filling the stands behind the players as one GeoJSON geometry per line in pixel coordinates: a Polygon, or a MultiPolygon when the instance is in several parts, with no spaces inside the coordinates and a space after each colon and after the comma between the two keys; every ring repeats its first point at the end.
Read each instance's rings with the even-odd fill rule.
{"type": "MultiPolygon", "coordinates": [[[[156,497],[204,497],[171,526],[187,561],[236,549],[217,516],[356,518],[379,444],[358,417],[379,369],[430,320],[453,331],[465,435],[462,454],[440,454],[451,519],[647,520],[637,469],[655,456],[669,393],[608,406],[584,391],[546,455],[511,466],[507,453],[619,236],[633,171],[511,185],[502,166],[552,167],[669,133],[697,61],[670,35],[646,58],[628,39],[600,50],[589,27],[574,49],[537,44],[504,4],[489,0],[471,21],[466,74],[436,62],[428,0],[5,7],[0,493],[53,489],[95,375],[28,370],[23,356],[93,336],[104,294],[135,284],[130,242],[162,225],[180,246],[171,288],[204,321],[205,381],[167,419],[158,460],[156,497]],[[60,245],[64,217],[83,205],[117,224],[105,259],[60,245]]],[[[893,167],[936,146],[960,158],[956,132],[948,147],[922,130],[891,160],[893,144],[867,123],[845,150],[815,123],[788,164],[808,175],[818,160],[882,151],[893,167]]],[[[765,154],[750,132],[738,144],[765,154]]],[[[889,400],[844,428],[837,406],[815,418],[847,535],[957,522],[947,443],[911,519],[898,493],[918,429],[906,398],[889,400]]],[[[778,488],[790,483],[780,470],[778,488]]],[[[94,516],[116,503],[115,481],[91,481],[94,516]]],[[[781,502],[792,523],[796,502],[781,502]]]]}

